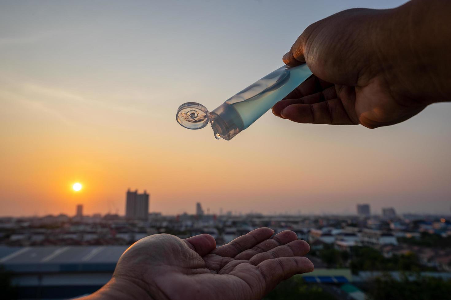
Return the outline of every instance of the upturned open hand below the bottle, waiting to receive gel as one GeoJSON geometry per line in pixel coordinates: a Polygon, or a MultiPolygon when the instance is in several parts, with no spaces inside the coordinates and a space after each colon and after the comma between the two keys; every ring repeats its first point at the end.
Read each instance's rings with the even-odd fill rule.
{"type": "Polygon", "coordinates": [[[258,228],[218,248],[208,234],[185,240],[169,234],[143,238],[124,252],[113,282],[97,296],[261,299],[282,280],[313,270],[302,257],[309,251],[307,242],[292,231],[273,233],[258,228]]]}

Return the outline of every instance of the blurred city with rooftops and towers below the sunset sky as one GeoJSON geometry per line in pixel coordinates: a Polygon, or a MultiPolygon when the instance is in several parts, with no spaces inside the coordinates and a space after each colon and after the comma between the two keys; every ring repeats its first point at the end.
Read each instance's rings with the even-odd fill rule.
{"type": "Polygon", "coordinates": [[[400,215],[392,207],[373,212],[368,204],[356,204],[355,215],[231,211],[214,215],[205,212],[201,203],[194,206],[195,214],[148,213],[149,194],[128,190],[125,215],[84,215],[80,204],[72,216],[2,217],[0,281],[5,299],[64,299],[92,293],[110,279],[129,245],[152,234],[186,238],[208,233],[220,246],[259,227],[270,227],[275,233],[294,231],[310,244],[307,256],[315,265],[313,273],[283,282],[267,299],[446,299],[450,295],[449,214],[400,215]]]}

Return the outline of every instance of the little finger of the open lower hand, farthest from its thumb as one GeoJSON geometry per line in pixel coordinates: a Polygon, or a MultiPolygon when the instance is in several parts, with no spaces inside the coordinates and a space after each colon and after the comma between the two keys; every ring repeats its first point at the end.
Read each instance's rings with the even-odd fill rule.
{"type": "Polygon", "coordinates": [[[271,291],[279,282],[295,274],[312,272],[312,262],[305,257],[281,257],[265,260],[257,265],[265,281],[265,294],[271,291]]]}

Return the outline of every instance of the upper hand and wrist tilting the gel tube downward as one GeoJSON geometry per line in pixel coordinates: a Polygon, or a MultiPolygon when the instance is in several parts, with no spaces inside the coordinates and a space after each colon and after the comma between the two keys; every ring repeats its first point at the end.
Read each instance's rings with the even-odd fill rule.
{"type": "Polygon", "coordinates": [[[272,108],[299,123],[368,128],[409,119],[451,97],[451,2],[349,9],[313,23],[283,61],[314,76],[272,108]]]}

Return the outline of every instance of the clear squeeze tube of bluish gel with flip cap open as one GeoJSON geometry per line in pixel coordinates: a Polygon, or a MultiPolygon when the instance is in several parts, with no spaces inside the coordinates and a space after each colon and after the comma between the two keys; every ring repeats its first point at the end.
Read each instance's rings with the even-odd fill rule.
{"type": "Polygon", "coordinates": [[[230,140],[311,75],[305,63],[297,67],[280,67],[227,99],[212,112],[195,102],[180,105],[177,122],[188,129],[201,129],[210,122],[216,139],[230,140]]]}

